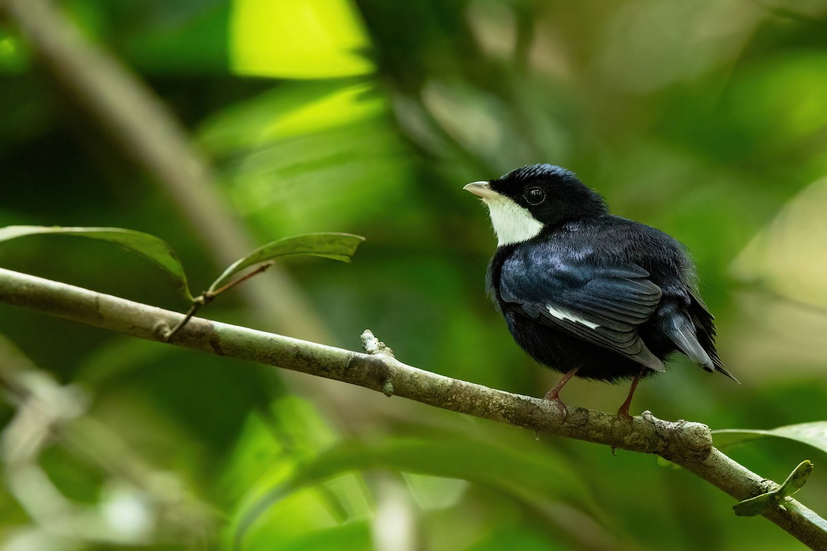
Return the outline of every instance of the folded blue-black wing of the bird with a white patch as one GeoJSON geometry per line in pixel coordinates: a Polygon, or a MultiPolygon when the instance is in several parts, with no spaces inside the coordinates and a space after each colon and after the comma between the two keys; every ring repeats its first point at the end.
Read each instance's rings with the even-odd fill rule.
{"type": "Polygon", "coordinates": [[[500,297],[545,325],[663,371],[638,336],[662,294],[648,277],[637,264],[591,266],[576,257],[514,254],[503,264],[500,297]]]}

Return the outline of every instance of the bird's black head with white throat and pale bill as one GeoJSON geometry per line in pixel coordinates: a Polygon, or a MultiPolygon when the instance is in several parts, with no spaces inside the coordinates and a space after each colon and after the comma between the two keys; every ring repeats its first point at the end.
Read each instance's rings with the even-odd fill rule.
{"type": "Polygon", "coordinates": [[[498,245],[520,243],[545,228],[608,212],[599,193],[552,164],[530,164],[465,189],[488,207],[498,245]]]}

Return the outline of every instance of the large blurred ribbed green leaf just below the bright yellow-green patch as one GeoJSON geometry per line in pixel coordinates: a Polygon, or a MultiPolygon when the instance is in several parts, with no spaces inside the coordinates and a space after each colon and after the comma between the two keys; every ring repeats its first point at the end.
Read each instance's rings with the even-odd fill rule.
{"type": "MultiPolygon", "coordinates": [[[[391,111],[371,80],[284,81],[209,116],[198,141],[226,161],[232,204],[264,235],[350,228],[412,207],[416,171],[391,111]]],[[[393,222],[406,235],[421,225],[393,222]]]]}

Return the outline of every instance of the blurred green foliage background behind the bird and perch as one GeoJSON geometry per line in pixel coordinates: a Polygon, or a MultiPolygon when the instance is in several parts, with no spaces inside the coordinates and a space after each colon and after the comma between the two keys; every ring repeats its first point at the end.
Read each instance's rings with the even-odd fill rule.
{"type": "MultiPolygon", "coordinates": [[[[285,260],[203,316],[348,349],[370,328],[405,363],[540,397],[558,375],[485,297],[495,238],[462,186],[561,164],[615,213],[691,249],[721,357],[743,382],[681,357],[643,383],[633,414],[713,429],[827,419],[824,0],[59,7],[184,125],[212,165],[198,196],[224,210],[198,220],[199,204],[79,99],[73,83],[107,75],[55,68],[6,13],[0,226],[146,231],[179,252],[194,290],[229,264],[215,235],[365,235],[353,264],[285,260]],[[286,311],[270,315],[268,300],[286,311]]],[[[151,264],[105,244],[31,237],[3,244],[0,265],[188,306],[151,264]]],[[[70,385],[94,421],[80,433],[92,441],[47,431],[25,468],[7,466],[0,549],[803,548],[654,457],[9,306],[0,334],[0,359],[70,385]]],[[[627,391],[575,381],[565,400],[614,411],[627,391]]],[[[0,406],[6,446],[44,426],[16,411],[0,406]]],[[[812,459],[797,497],[827,512],[823,451],[776,439],[724,451],[777,481],[812,459]]]]}

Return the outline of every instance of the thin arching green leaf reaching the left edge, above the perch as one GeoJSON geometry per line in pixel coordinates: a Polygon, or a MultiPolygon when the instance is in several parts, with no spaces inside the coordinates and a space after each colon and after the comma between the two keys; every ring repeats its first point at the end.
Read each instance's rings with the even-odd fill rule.
{"type": "Polygon", "coordinates": [[[150,260],[153,264],[163,269],[172,276],[175,287],[178,288],[184,297],[192,302],[193,297],[189,293],[187,276],[184,267],[178,259],[178,255],[155,235],[145,234],[141,231],[123,230],[122,228],[69,228],[60,226],[7,226],[0,228],[0,241],[8,241],[24,237],[26,235],[74,235],[87,239],[108,241],[120,245],[133,253],[140,254],[150,260]]]}

